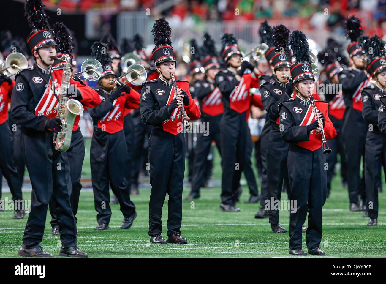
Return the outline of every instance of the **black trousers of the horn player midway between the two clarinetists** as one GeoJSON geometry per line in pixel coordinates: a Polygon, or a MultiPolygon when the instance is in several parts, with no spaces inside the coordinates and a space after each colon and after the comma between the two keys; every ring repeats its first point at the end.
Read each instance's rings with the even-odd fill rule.
{"type": "Polygon", "coordinates": [[[241,173],[244,170],[245,148],[247,146],[246,112],[225,112],[220,122],[220,143],[222,153],[221,203],[235,205],[241,173]]]}

